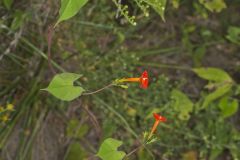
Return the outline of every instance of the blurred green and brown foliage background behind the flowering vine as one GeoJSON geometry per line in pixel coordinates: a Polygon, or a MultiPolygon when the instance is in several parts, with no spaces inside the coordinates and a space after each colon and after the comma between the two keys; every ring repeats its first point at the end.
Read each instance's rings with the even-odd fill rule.
{"type": "Polygon", "coordinates": [[[147,11],[137,2],[121,1],[129,20],[118,15],[116,0],[90,0],[56,27],[52,60],[59,72],[82,74],[89,91],[143,70],[150,87],[110,88],[71,103],[40,91],[53,77],[46,41],[60,1],[0,2],[0,159],[96,159],[107,137],[130,152],[153,112],[168,119],[160,140],[129,159],[240,159],[239,1],[169,0],[159,10],[149,0],[147,11]],[[230,89],[211,95],[219,83],[193,67],[225,70],[230,89]]]}

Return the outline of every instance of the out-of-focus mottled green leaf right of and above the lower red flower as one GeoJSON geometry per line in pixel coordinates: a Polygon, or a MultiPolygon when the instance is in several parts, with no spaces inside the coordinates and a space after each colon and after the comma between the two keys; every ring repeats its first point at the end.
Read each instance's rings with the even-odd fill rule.
{"type": "Polygon", "coordinates": [[[173,107],[179,114],[179,119],[188,120],[190,118],[189,113],[193,110],[192,101],[181,91],[173,90],[171,97],[174,100],[173,107]]]}

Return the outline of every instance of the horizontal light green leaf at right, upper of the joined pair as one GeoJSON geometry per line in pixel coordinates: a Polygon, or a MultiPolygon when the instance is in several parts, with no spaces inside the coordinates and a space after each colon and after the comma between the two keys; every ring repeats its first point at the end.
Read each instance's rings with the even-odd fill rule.
{"type": "Polygon", "coordinates": [[[218,68],[194,68],[195,72],[199,77],[215,82],[232,82],[232,78],[227,74],[227,72],[218,68]]]}

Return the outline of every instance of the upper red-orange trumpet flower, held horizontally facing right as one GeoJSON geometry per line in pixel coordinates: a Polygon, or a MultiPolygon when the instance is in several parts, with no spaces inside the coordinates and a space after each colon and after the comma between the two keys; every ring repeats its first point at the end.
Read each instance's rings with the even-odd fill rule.
{"type": "Polygon", "coordinates": [[[120,79],[119,82],[138,82],[140,83],[140,87],[143,89],[148,88],[148,72],[144,71],[141,75],[141,77],[138,78],[123,78],[120,79]]]}

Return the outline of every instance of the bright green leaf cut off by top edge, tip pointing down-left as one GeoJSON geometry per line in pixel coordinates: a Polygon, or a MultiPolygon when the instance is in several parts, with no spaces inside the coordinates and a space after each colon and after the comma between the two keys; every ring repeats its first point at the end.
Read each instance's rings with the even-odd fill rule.
{"type": "Polygon", "coordinates": [[[67,20],[77,14],[77,12],[88,2],[88,0],[61,0],[59,18],[55,26],[61,21],[67,20]]]}

